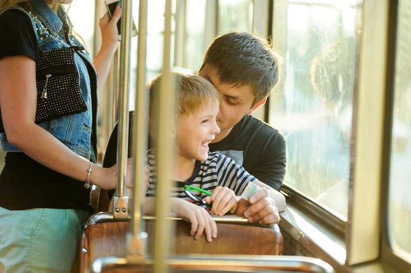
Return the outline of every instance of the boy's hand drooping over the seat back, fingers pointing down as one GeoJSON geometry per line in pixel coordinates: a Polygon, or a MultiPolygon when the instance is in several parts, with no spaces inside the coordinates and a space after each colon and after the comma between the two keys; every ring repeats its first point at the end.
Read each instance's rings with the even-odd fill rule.
{"type": "Polygon", "coordinates": [[[206,209],[187,202],[181,198],[172,198],[171,206],[177,216],[185,218],[191,223],[191,235],[200,239],[201,234],[206,232],[207,242],[217,237],[217,225],[206,209]]]}

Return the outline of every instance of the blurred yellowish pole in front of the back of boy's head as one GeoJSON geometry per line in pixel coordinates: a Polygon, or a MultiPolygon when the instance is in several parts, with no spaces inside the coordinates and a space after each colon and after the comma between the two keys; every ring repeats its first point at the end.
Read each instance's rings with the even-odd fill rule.
{"type": "Polygon", "coordinates": [[[164,61],[160,79],[160,111],[158,128],[158,148],[156,162],[158,166],[158,190],[156,200],[154,272],[168,272],[166,259],[170,252],[171,222],[167,220],[171,212],[171,171],[174,142],[170,137],[171,125],[174,125],[175,90],[170,75],[171,51],[171,0],[166,0],[164,27],[164,61]]]}

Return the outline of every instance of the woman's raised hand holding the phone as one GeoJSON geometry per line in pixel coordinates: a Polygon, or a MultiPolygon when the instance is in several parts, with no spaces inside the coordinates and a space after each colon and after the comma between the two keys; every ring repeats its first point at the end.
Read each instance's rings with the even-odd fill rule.
{"type": "Polygon", "coordinates": [[[119,22],[120,17],[121,8],[117,5],[111,19],[108,13],[100,18],[101,49],[111,49],[114,53],[119,46],[119,30],[117,29],[117,22],[119,22]]]}

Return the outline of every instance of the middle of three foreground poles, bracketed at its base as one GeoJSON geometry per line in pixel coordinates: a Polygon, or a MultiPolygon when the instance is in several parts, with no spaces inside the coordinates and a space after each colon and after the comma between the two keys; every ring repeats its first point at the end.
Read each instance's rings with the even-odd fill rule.
{"type": "Polygon", "coordinates": [[[145,155],[147,151],[149,96],[145,83],[147,52],[147,0],[140,0],[138,9],[137,94],[133,124],[134,195],[131,233],[127,237],[127,260],[142,263],[145,259],[147,233],[141,220],[142,197],[145,194],[145,155]]]}

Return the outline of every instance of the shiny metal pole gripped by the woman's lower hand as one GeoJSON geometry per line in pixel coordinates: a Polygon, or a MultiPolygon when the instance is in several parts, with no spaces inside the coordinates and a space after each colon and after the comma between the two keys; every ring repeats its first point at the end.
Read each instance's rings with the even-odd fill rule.
{"type": "Polygon", "coordinates": [[[125,197],[127,183],[127,152],[129,134],[129,82],[132,49],[132,1],[123,0],[121,14],[120,43],[120,94],[119,94],[119,136],[117,139],[117,187],[114,196],[114,220],[127,219],[128,198],[125,197]]]}

